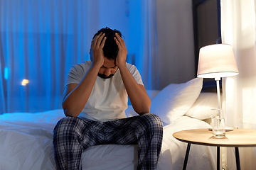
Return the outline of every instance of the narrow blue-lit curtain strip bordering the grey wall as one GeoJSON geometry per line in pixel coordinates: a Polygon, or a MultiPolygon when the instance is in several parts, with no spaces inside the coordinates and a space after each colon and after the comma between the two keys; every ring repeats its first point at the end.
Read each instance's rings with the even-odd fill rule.
{"type": "Polygon", "coordinates": [[[142,1],[141,74],[146,89],[159,89],[159,58],[156,28],[156,1],[142,1]]]}

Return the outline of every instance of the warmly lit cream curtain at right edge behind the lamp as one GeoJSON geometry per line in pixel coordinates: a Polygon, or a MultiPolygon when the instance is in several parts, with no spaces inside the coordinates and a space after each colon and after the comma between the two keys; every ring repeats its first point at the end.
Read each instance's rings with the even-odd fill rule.
{"type": "MultiPolygon", "coordinates": [[[[239,75],[223,81],[223,108],[227,124],[256,129],[256,27],[255,0],[222,0],[221,33],[223,43],[233,46],[239,75]]],[[[254,147],[240,148],[241,169],[256,166],[254,147]]],[[[236,169],[234,151],[228,149],[228,165],[236,169]]]]}

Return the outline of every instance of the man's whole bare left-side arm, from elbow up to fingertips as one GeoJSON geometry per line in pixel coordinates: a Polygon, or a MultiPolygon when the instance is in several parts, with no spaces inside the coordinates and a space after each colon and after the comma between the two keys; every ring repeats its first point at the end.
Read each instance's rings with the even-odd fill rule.
{"type": "Polygon", "coordinates": [[[104,36],[105,34],[100,33],[92,40],[92,66],[80,84],[68,84],[65,88],[62,106],[66,116],[78,117],[90,97],[97,74],[104,62],[103,47],[106,40],[104,36]]]}

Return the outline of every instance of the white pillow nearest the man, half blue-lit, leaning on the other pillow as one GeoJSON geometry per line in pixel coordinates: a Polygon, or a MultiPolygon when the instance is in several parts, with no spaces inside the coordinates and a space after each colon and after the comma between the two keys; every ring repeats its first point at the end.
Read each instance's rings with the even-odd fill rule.
{"type": "Polygon", "coordinates": [[[151,103],[150,112],[159,115],[164,123],[172,123],[185,115],[203,86],[203,78],[195,78],[183,84],[169,84],[151,103]]]}

